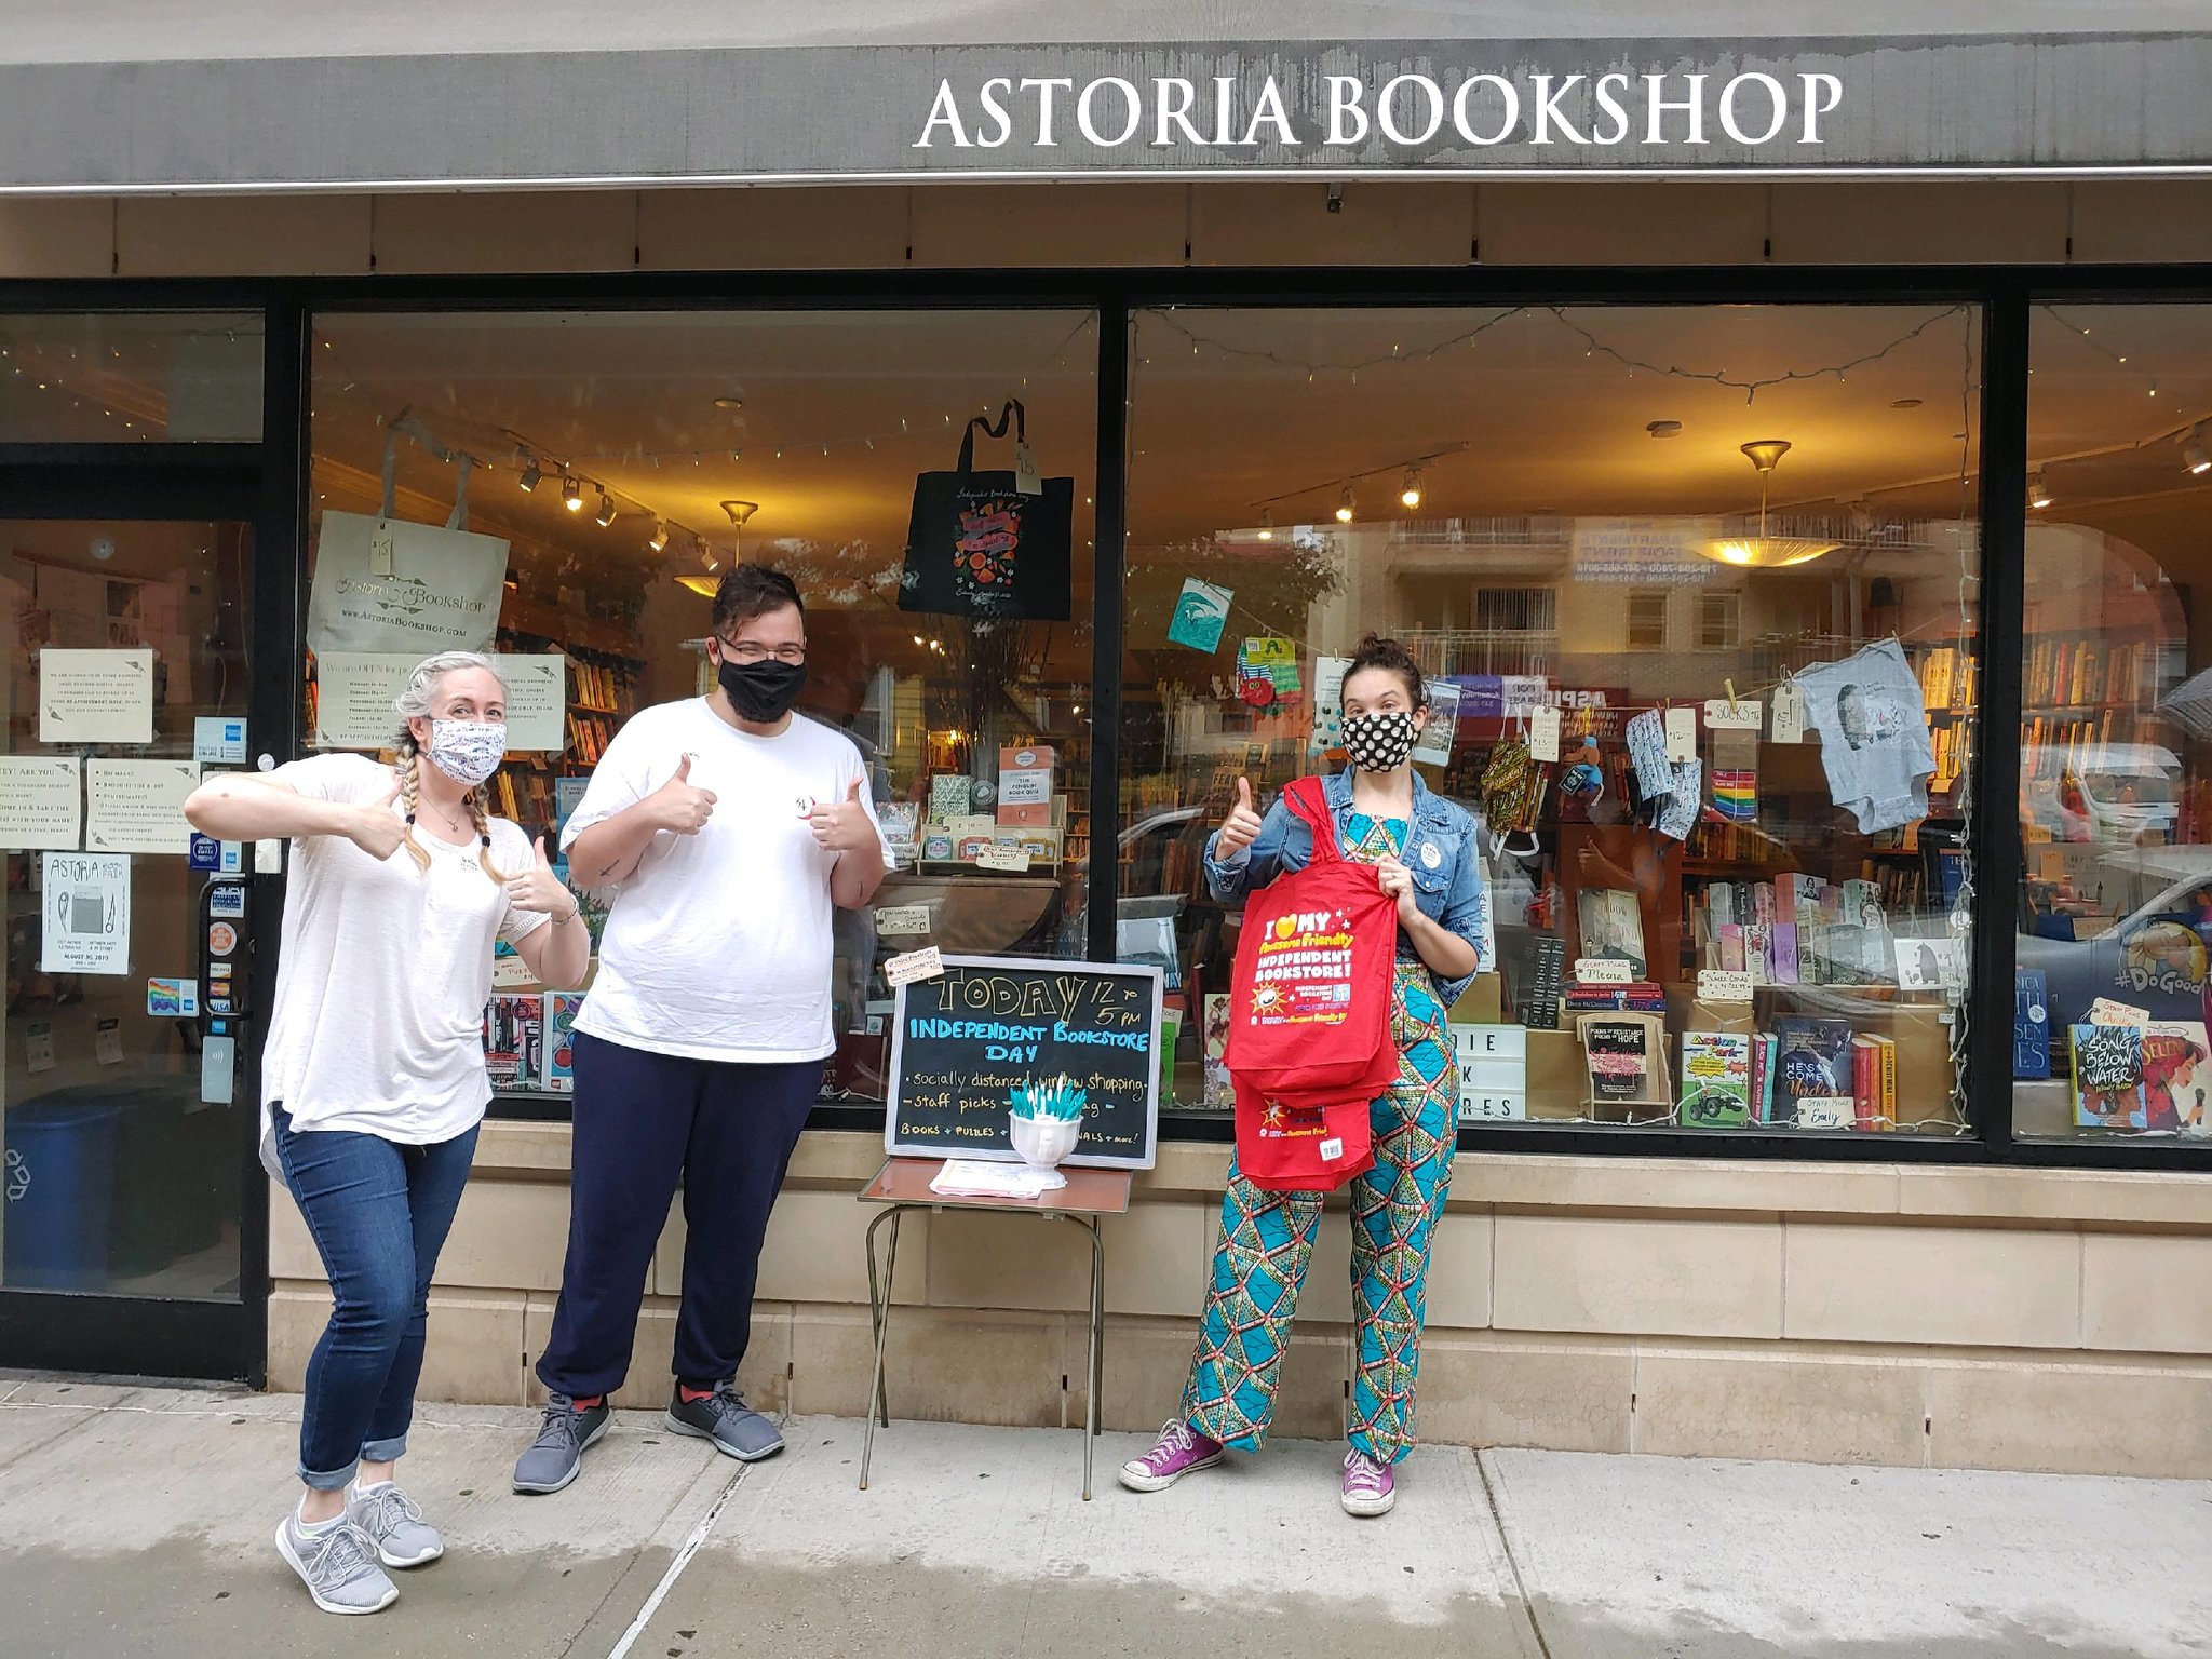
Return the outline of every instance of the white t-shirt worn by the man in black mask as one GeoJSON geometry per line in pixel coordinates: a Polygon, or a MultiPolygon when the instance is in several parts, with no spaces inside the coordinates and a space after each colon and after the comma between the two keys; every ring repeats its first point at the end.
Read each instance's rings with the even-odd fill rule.
{"type": "MultiPolygon", "coordinates": [[[[812,803],[863,781],[860,750],[805,714],[774,737],[739,732],[703,697],[630,717],[591,774],[562,845],[644,801],[690,754],[714,792],[695,836],[659,832],[622,883],[599,936],[599,975],[575,1029],[688,1060],[823,1060],[830,1029],[830,872],[812,803]]],[[[869,823],[876,803],[860,790],[869,823]]],[[[883,830],[876,830],[878,847],[883,830]]],[[[894,869],[887,847],[885,869],[894,869]]]]}

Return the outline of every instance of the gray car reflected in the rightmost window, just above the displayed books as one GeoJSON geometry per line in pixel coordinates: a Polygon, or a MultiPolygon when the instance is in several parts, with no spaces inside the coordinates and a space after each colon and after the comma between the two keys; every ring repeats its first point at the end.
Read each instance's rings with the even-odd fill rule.
{"type": "Polygon", "coordinates": [[[2097,872],[2108,909],[2130,905],[2119,922],[2095,938],[2024,933],[2015,947],[2015,964],[2048,980],[2051,1018],[2075,1022],[2108,995],[2154,1020],[2203,1020],[2212,847],[2115,849],[2097,872]]]}

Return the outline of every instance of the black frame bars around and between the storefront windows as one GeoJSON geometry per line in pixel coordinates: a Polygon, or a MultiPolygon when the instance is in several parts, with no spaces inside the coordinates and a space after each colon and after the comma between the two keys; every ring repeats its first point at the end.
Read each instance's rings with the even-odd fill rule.
{"type": "MultiPolygon", "coordinates": [[[[290,628],[288,650],[268,650],[265,672],[279,688],[254,688],[257,710],[270,708],[261,745],[296,750],[296,710],[274,717],[283,690],[303,670],[307,522],[310,325],[319,312],[515,310],[1011,310],[1091,307],[1099,316],[1097,363],[1097,564],[1093,604],[1093,845],[1119,834],[1121,708],[1121,566],[1126,538],[1126,403],[1133,358],[1133,314],[1152,305],[1340,305],[1340,307],[1471,307],[1471,305],[1944,305],[1971,303],[1982,321],[1980,526],[1982,526],[1982,734],[1973,757],[1980,801],[2008,801],[2020,783],[2017,650],[1991,641],[2020,639],[2024,619],[2022,546],[2026,531],[2028,319],[2037,303],[2212,303],[2212,263],[2177,265],[1827,265],[1827,268],[1159,268],[1159,270],[891,270],[891,272],[608,272],[588,276],[301,276],[301,279],[0,279],[7,312],[113,310],[261,310],[268,363],[265,420],[259,445],[263,513],[257,549],[263,557],[257,599],[268,626],[290,628]],[[1119,341],[1119,349],[1115,349],[1119,341]],[[285,560],[290,553],[290,560],[285,560]],[[283,659],[290,657],[290,664],[283,659]]],[[[159,451],[133,445],[131,456],[102,456],[119,467],[159,462],[159,451]]],[[[35,469],[64,460],[66,447],[0,445],[0,511],[9,489],[29,489],[35,469]]],[[[1978,814],[1975,889],[2006,896],[2020,885],[2022,852],[2011,814],[1978,814]]],[[[1093,872],[1093,883],[1110,880],[1093,872]]],[[[276,883],[263,883],[276,887],[276,883]]],[[[1097,887],[1093,889],[1097,891],[1097,887]]],[[[257,900],[259,902],[259,900],[257,900]]],[[[276,902],[270,894],[268,902],[276,902]]],[[[1093,905],[1091,956],[1110,956],[1113,909],[1093,905]]],[[[2212,1146],[2170,1141],[2048,1139],[2017,1141],[2011,1104],[2013,916],[1984,898],[1975,909],[1973,989],[1969,1015],[1969,1095],[1973,1130],[1955,1139],[1922,1137],[1765,1137],[1717,1139],[1694,1130],[1480,1128],[1460,1144],[1486,1152],[1562,1157],[1730,1157],[1807,1164],[2006,1164],[2086,1170],[2212,1172],[2212,1146]]],[[[564,1119],[566,1110],[513,1113],[564,1119]]],[[[810,1126],[876,1130],[874,1106],[827,1104],[810,1126]]],[[[1161,1113],[1164,1139],[1230,1139],[1219,1117],[1161,1113]]],[[[252,1287],[248,1287],[250,1292],[252,1287]]]]}

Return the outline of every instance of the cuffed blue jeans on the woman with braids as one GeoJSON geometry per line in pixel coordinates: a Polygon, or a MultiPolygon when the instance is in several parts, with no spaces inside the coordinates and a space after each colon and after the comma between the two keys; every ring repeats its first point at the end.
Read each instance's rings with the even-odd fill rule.
{"type": "Polygon", "coordinates": [[[363,1460],[407,1451],[429,1279],[469,1183],[476,1130],[400,1146],[349,1130],[294,1133],[283,1106],[270,1117],[332,1296],[330,1325],[307,1360],[299,1478],[338,1491],[363,1460]]]}

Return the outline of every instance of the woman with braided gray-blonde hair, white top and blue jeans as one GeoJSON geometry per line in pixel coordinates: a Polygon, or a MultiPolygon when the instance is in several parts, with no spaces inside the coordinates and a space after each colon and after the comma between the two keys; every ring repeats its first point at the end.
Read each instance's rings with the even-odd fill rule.
{"type": "Polygon", "coordinates": [[[491,1099],[482,1013],[493,942],[542,982],[591,962],[575,898],[484,807],[507,750],[507,686],[451,650],[398,695],[398,759],[321,754],[210,776],[184,805],[221,841],[292,841],[276,1002],[261,1053],[261,1157],[330,1274],[307,1360],[299,1506],[276,1548],[325,1613],[376,1613],[387,1566],[445,1542],[394,1484],[407,1451],[438,1250],[491,1099]]]}

